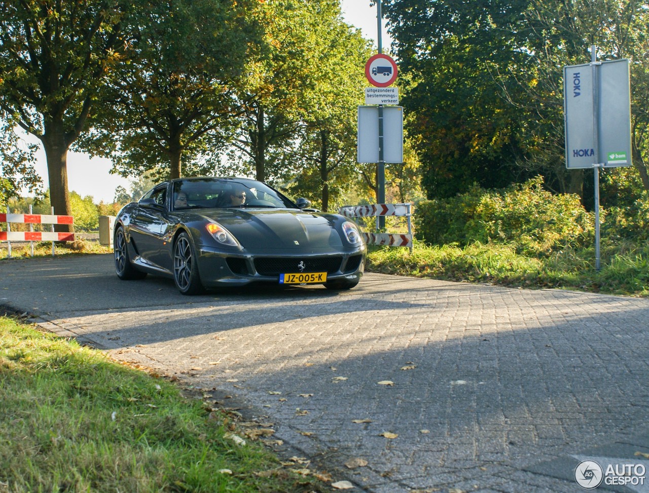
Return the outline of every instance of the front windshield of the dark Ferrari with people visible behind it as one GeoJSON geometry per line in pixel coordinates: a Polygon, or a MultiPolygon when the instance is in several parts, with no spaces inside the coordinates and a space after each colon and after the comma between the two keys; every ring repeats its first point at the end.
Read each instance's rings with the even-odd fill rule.
{"type": "Polygon", "coordinates": [[[297,208],[271,187],[244,178],[186,178],[173,182],[173,208],[297,208]]]}

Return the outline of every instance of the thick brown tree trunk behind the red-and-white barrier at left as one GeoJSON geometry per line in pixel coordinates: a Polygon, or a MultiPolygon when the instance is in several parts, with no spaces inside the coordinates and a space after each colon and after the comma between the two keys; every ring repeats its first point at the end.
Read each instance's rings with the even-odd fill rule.
{"type": "MultiPolygon", "coordinates": [[[[45,132],[40,139],[47,160],[49,200],[56,215],[72,215],[70,196],[67,191],[67,148],[66,134],[62,122],[45,122],[45,132]]],[[[73,232],[72,224],[55,224],[57,232],[73,232]]]]}

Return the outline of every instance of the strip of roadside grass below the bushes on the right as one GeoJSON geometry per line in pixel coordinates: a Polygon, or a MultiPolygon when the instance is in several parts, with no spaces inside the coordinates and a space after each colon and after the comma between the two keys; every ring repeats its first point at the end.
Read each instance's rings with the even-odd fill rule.
{"type": "Polygon", "coordinates": [[[560,288],[627,296],[649,296],[649,246],[602,241],[600,270],[594,247],[564,248],[538,256],[515,245],[472,243],[406,248],[369,247],[367,271],[439,280],[528,288],[560,288]]]}

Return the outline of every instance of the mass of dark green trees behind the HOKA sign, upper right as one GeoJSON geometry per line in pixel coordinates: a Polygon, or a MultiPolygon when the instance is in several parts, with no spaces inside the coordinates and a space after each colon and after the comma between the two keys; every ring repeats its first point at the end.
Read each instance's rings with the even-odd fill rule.
{"type": "Polygon", "coordinates": [[[583,195],[583,170],[565,169],[562,68],[589,62],[592,44],[600,60],[631,59],[633,161],[649,185],[646,2],[385,1],[428,197],[539,173],[583,195]]]}

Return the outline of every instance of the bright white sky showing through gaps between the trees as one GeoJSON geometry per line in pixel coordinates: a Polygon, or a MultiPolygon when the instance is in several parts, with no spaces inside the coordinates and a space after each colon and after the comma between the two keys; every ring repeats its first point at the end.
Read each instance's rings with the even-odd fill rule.
{"type": "MultiPolygon", "coordinates": [[[[374,47],[376,47],[378,32],[376,5],[371,6],[370,0],[341,0],[341,8],[345,22],[358,27],[365,38],[374,40],[374,47]]],[[[389,47],[391,40],[385,28],[385,21],[383,21],[382,25],[381,44],[384,51],[386,51],[386,47],[389,47]]],[[[29,140],[38,142],[35,138],[29,140]]],[[[36,159],[37,162],[34,167],[43,178],[43,184],[47,188],[47,163],[42,146],[36,159]]],[[[112,202],[117,186],[123,186],[127,191],[130,191],[130,180],[117,174],[110,174],[111,167],[112,163],[108,159],[91,159],[86,154],[68,152],[67,187],[69,191],[75,191],[81,197],[91,195],[95,203],[100,201],[112,202]]]]}

